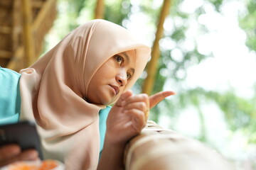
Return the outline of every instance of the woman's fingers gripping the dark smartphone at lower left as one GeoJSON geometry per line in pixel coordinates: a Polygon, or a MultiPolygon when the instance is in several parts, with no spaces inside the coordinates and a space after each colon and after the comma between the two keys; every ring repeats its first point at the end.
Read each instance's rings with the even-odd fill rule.
{"type": "Polygon", "coordinates": [[[35,149],[28,149],[21,152],[18,145],[5,145],[0,147],[0,167],[18,161],[38,160],[38,152],[35,149]]]}

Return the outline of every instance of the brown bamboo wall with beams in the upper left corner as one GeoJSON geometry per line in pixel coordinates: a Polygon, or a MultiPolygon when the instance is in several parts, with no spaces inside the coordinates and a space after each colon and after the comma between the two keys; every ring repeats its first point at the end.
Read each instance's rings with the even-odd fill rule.
{"type": "Polygon", "coordinates": [[[0,66],[18,72],[35,61],[56,13],[56,0],[1,0],[0,66]],[[26,45],[29,38],[30,45],[26,45]],[[33,51],[30,62],[27,61],[29,50],[33,51]]]}

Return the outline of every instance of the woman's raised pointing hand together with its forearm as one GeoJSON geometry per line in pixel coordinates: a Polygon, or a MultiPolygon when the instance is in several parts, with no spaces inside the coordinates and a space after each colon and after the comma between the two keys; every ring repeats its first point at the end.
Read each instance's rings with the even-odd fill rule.
{"type": "Polygon", "coordinates": [[[126,143],[142,131],[149,109],[173,94],[173,91],[162,91],[150,97],[146,94],[133,96],[132,91],[122,94],[107,117],[107,132],[97,169],[124,169],[126,143]]]}

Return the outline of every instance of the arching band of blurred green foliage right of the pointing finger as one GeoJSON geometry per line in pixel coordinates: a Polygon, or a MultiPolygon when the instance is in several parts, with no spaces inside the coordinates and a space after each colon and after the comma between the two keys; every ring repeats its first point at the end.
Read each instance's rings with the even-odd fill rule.
{"type": "MultiPolygon", "coordinates": [[[[208,140],[204,115],[200,106],[203,105],[203,103],[215,102],[223,111],[229,129],[233,132],[242,130],[244,134],[248,135],[248,143],[256,143],[256,97],[250,98],[250,100],[241,98],[236,96],[232,89],[220,94],[217,91],[206,91],[202,88],[196,88],[184,89],[184,91],[176,94],[176,101],[165,102],[166,103],[160,103],[160,105],[165,105],[166,108],[168,108],[165,111],[168,111],[166,113],[171,113],[170,116],[172,119],[181,115],[188,106],[196,108],[201,122],[201,135],[198,136],[199,140],[208,140]]],[[[163,112],[164,110],[158,111],[157,114],[159,115],[159,113],[163,112]]]]}

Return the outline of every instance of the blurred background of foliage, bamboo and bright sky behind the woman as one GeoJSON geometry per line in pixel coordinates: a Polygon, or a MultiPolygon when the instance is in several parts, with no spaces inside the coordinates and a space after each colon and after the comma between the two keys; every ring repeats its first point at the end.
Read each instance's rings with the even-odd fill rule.
{"type": "Polygon", "coordinates": [[[10,11],[22,11],[22,4],[21,20],[4,14],[3,7],[1,24],[7,26],[10,16],[16,19],[11,26],[26,24],[9,32],[0,28],[2,65],[26,67],[94,18],[117,23],[152,47],[134,93],[176,92],[151,109],[149,119],[217,149],[239,170],[256,169],[255,0],[1,0],[0,5],[11,1],[10,11]],[[24,12],[26,6],[33,10],[24,12]],[[19,31],[22,36],[14,35],[19,31]],[[11,47],[4,41],[7,32],[11,47]]]}

